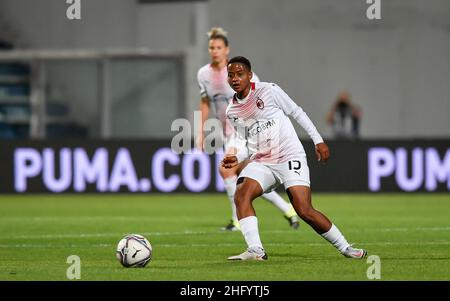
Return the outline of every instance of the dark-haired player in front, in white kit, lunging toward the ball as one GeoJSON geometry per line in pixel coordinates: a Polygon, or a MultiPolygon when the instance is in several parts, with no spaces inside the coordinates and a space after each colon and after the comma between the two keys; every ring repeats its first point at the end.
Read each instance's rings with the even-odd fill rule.
{"type": "MultiPolygon", "coordinates": [[[[367,252],[350,246],[339,229],[313,208],[309,188],[309,168],[303,145],[288,116],[309,134],[316,146],[318,161],[330,156],[328,146],[306,113],[279,86],[253,83],[251,64],[244,57],[228,62],[228,83],[236,91],[226,110],[227,117],[244,136],[251,154],[249,163],[239,174],[235,193],[237,216],[247,250],[230,260],[266,260],[261,243],[258,219],[252,202],[262,193],[284,185],[295,211],[317,233],[333,244],[344,256],[363,258],[367,252]]],[[[222,165],[235,168],[247,154],[226,154],[222,165]]]]}

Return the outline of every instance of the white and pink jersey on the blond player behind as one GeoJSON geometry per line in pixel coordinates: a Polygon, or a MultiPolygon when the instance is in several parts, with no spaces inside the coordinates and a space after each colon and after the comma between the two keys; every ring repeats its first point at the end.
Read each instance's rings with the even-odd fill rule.
{"type": "MultiPolygon", "coordinates": [[[[234,95],[234,90],[228,84],[227,66],[216,71],[207,64],[201,67],[197,73],[197,81],[200,87],[201,97],[207,97],[213,107],[214,115],[220,120],[225,136],[232,133],[232,127],[228,124],[226,109],[234,95]]],[[[256,74],[253,74],[253,81],[259,82],[256,74]]]]}

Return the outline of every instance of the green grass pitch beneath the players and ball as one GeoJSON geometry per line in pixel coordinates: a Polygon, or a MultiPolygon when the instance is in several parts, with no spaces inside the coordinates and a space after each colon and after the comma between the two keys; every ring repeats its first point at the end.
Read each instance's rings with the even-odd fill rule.
{"type": "MultiPolygon", "coordinates": [[[[450,280],[450,194],[313,194],[313,203],[350,243],[381,262],[381,280],[450,280]]],[[[0,280],[67,280],[69,255],[81,280],[368,280],[366,260],[344,258],[302,222],[254,203],[269,260],[229,262],[245,249],[223,232],[225,194],[2,195],[0,280]],[[128,233],[145,235],[153,259],[123,268],[128,233]]]]}

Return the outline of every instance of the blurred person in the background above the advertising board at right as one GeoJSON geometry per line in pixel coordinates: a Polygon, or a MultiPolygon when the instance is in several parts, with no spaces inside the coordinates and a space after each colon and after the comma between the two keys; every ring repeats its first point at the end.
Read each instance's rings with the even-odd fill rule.
{"type": "Polygon", "coordinates": [[[359,139],[361,109],[355,105],[347,91],[339,93],[327,115],[327,123],[332,127],[337,139],[359,139]]]}

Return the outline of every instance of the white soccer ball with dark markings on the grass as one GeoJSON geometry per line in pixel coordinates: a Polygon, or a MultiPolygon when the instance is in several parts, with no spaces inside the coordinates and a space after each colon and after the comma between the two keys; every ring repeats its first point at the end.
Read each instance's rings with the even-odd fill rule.
{"type": "Polygon", "coordinates": [[[128,234],[119,241],[116,257],[126,268],[143,268],[152,259],[152,245],[142,235],[128,234]]]}

